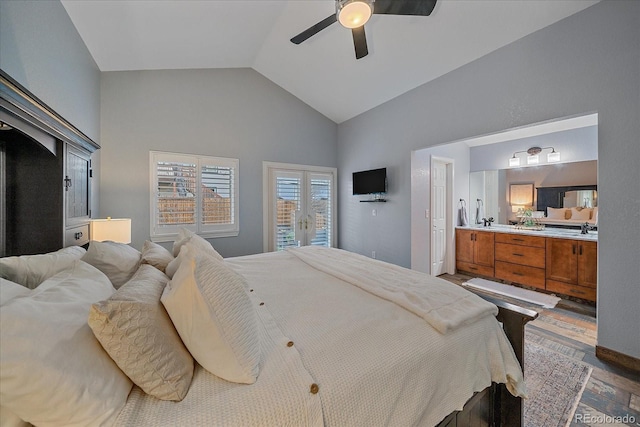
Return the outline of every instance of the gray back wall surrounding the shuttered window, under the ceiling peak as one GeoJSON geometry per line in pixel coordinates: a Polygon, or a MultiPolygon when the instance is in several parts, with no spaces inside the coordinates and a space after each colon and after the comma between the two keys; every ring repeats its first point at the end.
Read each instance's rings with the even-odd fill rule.
{"type": "Polygon", "coordinates": [[[262,251],[262,161],[336,167],[337,125],[252,69],[102,76],[100,215],[149,239],[149,151],[240,160],[240,234],[223,256],[262,251]]]}

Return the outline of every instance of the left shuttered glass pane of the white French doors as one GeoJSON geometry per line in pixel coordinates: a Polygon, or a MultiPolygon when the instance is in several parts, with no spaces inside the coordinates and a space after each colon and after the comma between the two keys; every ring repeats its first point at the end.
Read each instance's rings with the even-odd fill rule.
{"type": "Polygon", "coordinates": [[[295,238],[296,211],[300,210],[301,179],[276,177],[276,250],[300,246],[295,238]]]}

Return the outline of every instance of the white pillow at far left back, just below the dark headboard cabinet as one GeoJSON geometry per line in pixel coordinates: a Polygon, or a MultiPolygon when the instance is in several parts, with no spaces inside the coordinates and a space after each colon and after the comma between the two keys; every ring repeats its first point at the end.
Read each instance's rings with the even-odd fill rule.
{"type": "Polygon", "coordinates": [[[71,266],[85,252],[80,246],[69,246],[46,254],[0,258],[0,276],[34,289],[49,277],[71,266]]]}

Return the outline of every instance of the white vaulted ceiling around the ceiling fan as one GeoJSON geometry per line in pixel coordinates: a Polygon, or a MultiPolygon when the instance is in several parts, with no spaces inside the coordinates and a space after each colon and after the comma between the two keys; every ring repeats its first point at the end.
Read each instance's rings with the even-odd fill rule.
{"type": "Polygon", "coordinates": [[[428,17],[373,15],[356,60],[337,23],[289,41],[333,0],[62,0],[101,71],[253,68],[336,123],[594,3],[438,0],[428,17]]]}

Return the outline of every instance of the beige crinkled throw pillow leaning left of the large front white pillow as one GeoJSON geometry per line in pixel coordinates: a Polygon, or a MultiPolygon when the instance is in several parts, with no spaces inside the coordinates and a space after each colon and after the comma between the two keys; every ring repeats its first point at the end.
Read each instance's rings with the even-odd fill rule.
{"type": "Polygon", "coordinates": [[[193,358],[160,303],[169,278],[150,265],[108,300],[93,304],[89,326],[120,369],[145,393],[182,400],[193,377],[193,358]]]}

